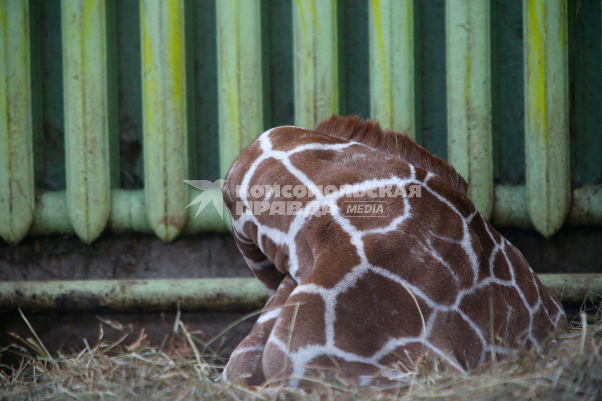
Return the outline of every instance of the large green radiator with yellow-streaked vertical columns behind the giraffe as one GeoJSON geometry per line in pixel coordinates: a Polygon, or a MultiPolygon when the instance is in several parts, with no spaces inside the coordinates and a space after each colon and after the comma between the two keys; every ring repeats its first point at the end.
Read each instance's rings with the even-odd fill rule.
{"type": "MultiPolygon", "coordinates": [[[[292,100],[291,123],[313,128],[333,112],[358,112],[358,97],[367,99],[366,117],[408,132],[430,150],[445,137],[433,147],[425,116],[445,99],[448,160],[495,224],[533,228],[546,237],[563,224],[601,225],[600,180],[571,186],[571,166],[583,163],[575,155],[591,152],[585,159],[594,175],[602,165],[600,155],[588,150],[590,143],[600,147],[599,132],[590,142],[570,135],[571,127],[582,132],[597,118],[589,109],[571,121],[583,105],[582,97],[569,93],[571,65],[581,79],[577,87],[583,82],[577,76],[581,64],[570,62],[582,49],[571,42],[571,32],[584,32],[578,24],[585,17],[566,0],[523,3],[523,71],[515,75],[524,87],[515,90],[524,102],[510,106],[500,85],[506,37],[494,29],[511,12],[506,2],[439,1],[441,24],[431,22],[439,10],[435,2],[418,0],[0,0],[0,236],[12,245],[27,235],[55,233],[90,243],[107,230],[134,230],[170,242],[186,233],[226,231],[212,207],[196,218],[194,208],[184,208],[199,192],[182,180],[223,177],[244,146],[282,120],[282,99],[292,100]],[[61,81],[40,77],[40,60],[49,60],[44,52],[57,35],[48,24],[57,20],[62,60],[51,56],[42,69],[52,75],[62,63],[62,73],[54,75],[62,90],[61,81]],[[206,35],[211,29],[213,36],[206,35]],[[43,51],[40,31],[48,41],[43,51]],[[447,82],[433,93],[425,90],[434,82],[430,32],[444,35],[447,82]],[[353,81],[358,68],[367,79],[353,81]],[[290,70],[291,79],[281,69],[290,70]],[[40,100],[40,80],[62,103],[40,100]],[[139,102],[130,88],[139,88],[139,102]],[[132,169],[124,166],[129,142],[120,133],[127,123],[121,110],[128,107],[141,115],[143,188],[120,185],[120,173],[132,169]],[[503,120],[512,107],[524,111],[524,127],[523,120],[503,120]],[[212,110],[217,129],[206,123],[212,110]],[[57,159],[48,146],[54,135],[48,126],[57,115],[63,116],[64,140],[54,146],[64,148],[64,188],[51,190],[43,176],[60,168],[45,171],[43,159],[46,165],[57,159]],[[504,139],[512,124],[520,124],[512,135],[523,141],[504,139]],[[524,182],[518,185],[497,180],[500,166],[514,163],[500,160],[509,146],[516,155],[524,149],[524,182]],[[199,160],[217,173],[197,174],[199,160]]],[[[594,41],[600,48],[597,7],[594,41]]]]}

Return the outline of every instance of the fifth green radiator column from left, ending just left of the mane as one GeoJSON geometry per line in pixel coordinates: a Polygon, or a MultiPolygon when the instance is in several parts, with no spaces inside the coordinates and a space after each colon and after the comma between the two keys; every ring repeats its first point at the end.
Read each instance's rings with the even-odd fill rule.
{"type": "Polygon", "coordinates": [[[339,109],[336,0],[293,0],[295,124],[315,129],[339,109]]]}

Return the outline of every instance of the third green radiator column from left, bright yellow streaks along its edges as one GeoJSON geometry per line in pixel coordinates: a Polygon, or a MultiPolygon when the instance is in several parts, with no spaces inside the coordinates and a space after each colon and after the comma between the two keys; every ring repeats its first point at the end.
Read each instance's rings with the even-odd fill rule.
{"type": "Polygon", "coordinates": [[[140,24],[147,218],[170,242],[188,216],[184,0],[141,0],[140,24]]]}

